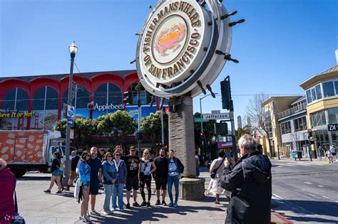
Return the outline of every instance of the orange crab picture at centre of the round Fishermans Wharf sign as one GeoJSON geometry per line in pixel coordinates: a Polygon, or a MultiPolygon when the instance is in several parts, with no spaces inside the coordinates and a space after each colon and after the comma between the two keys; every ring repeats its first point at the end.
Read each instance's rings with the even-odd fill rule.
{"type": "Polygon", "coordinates": [[[167,51],[174,53],[180,48],[180,42],[186,35],[185,26],[181,23],[175,23],[170,28],[163,28],[155,39],[155,50],[161,55],[168,55],[167,51]]]}

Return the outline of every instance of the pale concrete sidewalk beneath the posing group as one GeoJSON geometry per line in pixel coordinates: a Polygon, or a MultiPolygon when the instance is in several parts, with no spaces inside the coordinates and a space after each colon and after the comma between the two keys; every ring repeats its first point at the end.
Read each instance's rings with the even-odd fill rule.
{"type": "MultiPolygon", "coordinates": [[[[43,193],[49,184],[48,174],[31,173],[28,177],[18,179],[16,194],[19,212],[24,215],[26,223],[82,223],[79,220],[80,204],[73,198],[73,191],[56,194],[56,187],[51,194],[43,193]]],[[[71,188],[73,190],[73,188],[71,188]]],[[[96,199],[96,210],[102,210],[104,193],[96,199]]],[[[92,216],[93,223],[224,223],[228,202],[221,197],[221,204],[213,203],[215,198],[206,197],[203,201],[178,201],[177,208],[155,206],[155,198],[151,198],[151,207],[125,209],[123,213],[116,211],[113,215],[92,216]]],[[[126,201],[126,198],[124,199],[126,201]]],[[[130,200],[132,201],[132,200],[130,200]]],[[[166,198],[169,202],[169,198],[166,198]]],[[[141,197],[138,194],[138,203],[141,197]]],[[[90,207],[89,207],[90,208],[90,207]]],[[[285,223],[272,211],[272,221],[285,223]]]]}

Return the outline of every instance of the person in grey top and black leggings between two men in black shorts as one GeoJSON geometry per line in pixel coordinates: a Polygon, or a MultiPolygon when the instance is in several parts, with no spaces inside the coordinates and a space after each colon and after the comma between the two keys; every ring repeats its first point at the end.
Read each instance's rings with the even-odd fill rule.
{"type": "Polygon", "coordinates": [[[140,206],[150,206],[151,198],[151,174],[156,170],[155,163],[150,158],[150,152],[148,149],[144,149],[143,157],[140,159],[140,194],[143,198],[143,202],[140,206]],[[148,202],[145,201],[144,186],[147,185],[148,190],[148,202]]]}

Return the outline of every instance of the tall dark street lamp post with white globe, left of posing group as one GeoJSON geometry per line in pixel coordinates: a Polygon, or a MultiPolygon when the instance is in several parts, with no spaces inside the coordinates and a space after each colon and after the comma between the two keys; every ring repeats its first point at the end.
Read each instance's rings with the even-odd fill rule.
{"type": "MultiPolygon", "coordinates": [[[[72,102],[72,95],[73,95],[73,66],[74,66],[74,58],[76,53],[78,52],[78,47],[75,44],[75,41],[71,43],[71,46],[69,46],[69,53],[71,53],[71,72],[69,74],[69,85],[68,85],[68,102],[67,105],[71,106],[72,102]]],[[[67,107],[68,110],[68,107],[67,107]]],[[[67,118],[68,118],[68,113],[67,113],[67,118]]],[[[68,122],[67,122],[68,123],[68,122]]],[[[70,153],[70,144],[71,144],[71,126],[67,124],[66,128],[66,161],[65,161],[65,166],[66,169],[64,171],[64,183],[68,183],[69,179],[69,173],[71,171],[71,160],[69,159],[70,153]]]]}

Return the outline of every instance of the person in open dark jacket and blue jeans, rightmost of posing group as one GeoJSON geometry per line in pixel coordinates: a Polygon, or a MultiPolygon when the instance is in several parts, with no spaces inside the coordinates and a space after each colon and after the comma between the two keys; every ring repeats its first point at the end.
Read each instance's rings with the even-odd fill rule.
{"type": "Polygon", "coordinates": [[[178,206],[178,182],[180,181],[180,176],[183,174],[184,166],[180,162],[180,159],[175,157],[175,151],[173,149],[169,150],[169,159],[168,159],[168,194],[170,198],[169,207],[178,206]],[[175,186],[175,202],[173,201],[172,188],[173,184],[175,186]]]}

